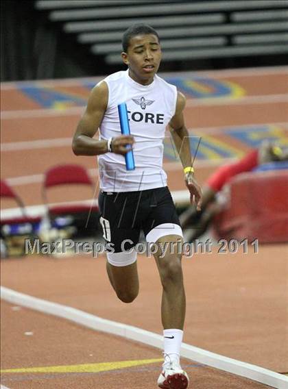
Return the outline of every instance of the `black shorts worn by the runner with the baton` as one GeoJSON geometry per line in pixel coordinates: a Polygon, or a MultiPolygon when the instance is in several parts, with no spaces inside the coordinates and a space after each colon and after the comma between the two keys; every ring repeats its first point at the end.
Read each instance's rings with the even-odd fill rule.
{"type": "Polygon", "coordinates": [[[124,240],[132,240],[125,248],[134,247],[139,242],[141,229],[146,237],[149,231],[164,223],[180,226],[167,186],[136,192],[100,191],[98,201],[103,236],[114,244],[115,253],[123,251],[121,242],[124,240]]]}

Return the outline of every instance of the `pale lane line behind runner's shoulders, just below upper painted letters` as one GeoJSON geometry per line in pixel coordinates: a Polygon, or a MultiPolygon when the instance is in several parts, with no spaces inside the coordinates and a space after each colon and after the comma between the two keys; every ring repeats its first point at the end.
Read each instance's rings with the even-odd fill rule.
{"type": "MultiPolygon", "coordinates": [[[[204,99],[187,99],[187,107],[199,107],[206,105],[247,105],[267,104],[267,103],[287,103],[288,95],[259,95],[259,96],[243,96],[238,98],[230,97],[211,97],[204,99]]],[[[84,112],[84,106],[67,108],[65,110],[56,110],[55,108],[46,108],[40,110],[15,110],[2,111],[1,119],[20,119],[20,118],[41,118],[46,116],[71,116],[80,115],[84,112]]]]}

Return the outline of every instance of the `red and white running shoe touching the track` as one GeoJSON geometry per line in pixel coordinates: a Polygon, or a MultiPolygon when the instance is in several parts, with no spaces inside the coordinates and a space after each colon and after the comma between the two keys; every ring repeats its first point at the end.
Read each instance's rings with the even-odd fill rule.
{"type": "Polygon", "coordinates": [[[189,384],[189,378],[186,371],[182,370],[180,364],[176,362],[166,362],[163,365],[163,371],[157,381],[161,389],[186,389],[189,384]]]}

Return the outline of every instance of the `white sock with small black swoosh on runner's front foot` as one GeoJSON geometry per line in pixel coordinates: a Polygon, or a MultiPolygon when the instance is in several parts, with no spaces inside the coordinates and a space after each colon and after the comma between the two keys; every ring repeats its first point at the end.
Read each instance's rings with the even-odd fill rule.
{"type": "Polygon", "coordinates": [[[181,343],[183,338],[182,329],[176,329],[176,328],[164,329],[163,336],[164,336],[164,355],[165,355],[164,364],[169,362],[170,360],[179,364],[180,348],[181,348],[181,343]]]}

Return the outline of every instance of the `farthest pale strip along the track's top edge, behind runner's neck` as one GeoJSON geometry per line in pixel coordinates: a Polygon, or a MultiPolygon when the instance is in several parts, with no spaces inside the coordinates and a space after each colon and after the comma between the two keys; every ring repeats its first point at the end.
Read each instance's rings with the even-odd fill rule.
{"type": "MultiPolygon", "coordinates": [[[[235,69],[220,69],[220,70],[213,70],[213,71],[187,71],[187,72],[160,72],[158,73],[160,77],[175,77],[175,75],[213,75],[215,77],[254,77],[254,76],[261,76],[261,75],[278,75],[278,74],[288,74],[288,67],[287,66],[261,66],[258,68],[235,68],[235,69]]],[[[106,75],[103,75],[101,77],[84,77],[84,78],[67,78],[67,79],[43,79],[38,81],[16,81],[16,82],[1,82],[1,90],[10,90],[15,89],[17,87],[21,86],[27,86],[27,85],[35,85],[35,86],[50,86],[50,87],[57,87],[57,86],[82,86],[84,83],[91,83],[101,81],[101,79],[104,79],[106,75]]]]}

